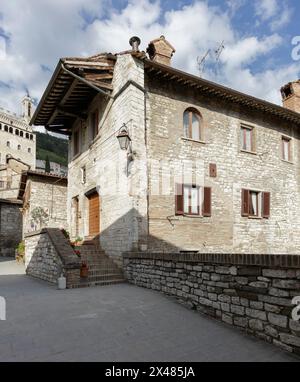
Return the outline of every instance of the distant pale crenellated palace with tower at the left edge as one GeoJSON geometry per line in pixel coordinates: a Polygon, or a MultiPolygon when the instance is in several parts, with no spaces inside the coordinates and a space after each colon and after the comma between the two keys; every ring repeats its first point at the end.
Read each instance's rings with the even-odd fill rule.
{"type": "Polygon", "coordinates": [[[28,95],[22,100],[22,109],[22,116],[0,109],[0,198],[4,199],[18,195],[20,173],[10,159],[35,169],[36,139],[29,126],[33,103],[28,95]]]}

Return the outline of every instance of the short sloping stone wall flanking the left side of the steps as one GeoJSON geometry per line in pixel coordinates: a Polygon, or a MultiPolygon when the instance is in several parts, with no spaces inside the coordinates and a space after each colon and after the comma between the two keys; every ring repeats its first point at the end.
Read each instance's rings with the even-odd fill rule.
{"type": "Polygon", "coordinates": [[[80,259],[60,229],[45,228],[25,235],[25,267],[28,275],[52,284],[64,274],[67,288],[80,281],[80,259]]]}

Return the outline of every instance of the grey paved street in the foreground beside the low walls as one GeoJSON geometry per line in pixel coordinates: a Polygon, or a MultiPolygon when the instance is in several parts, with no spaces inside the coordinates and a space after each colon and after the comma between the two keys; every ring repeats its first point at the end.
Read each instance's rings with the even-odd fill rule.
{"type": "Polygon", "coordinates": [[[128,284],[59,291],[0,260],[0,361],[295,361],[290,354],[128,284]]]}

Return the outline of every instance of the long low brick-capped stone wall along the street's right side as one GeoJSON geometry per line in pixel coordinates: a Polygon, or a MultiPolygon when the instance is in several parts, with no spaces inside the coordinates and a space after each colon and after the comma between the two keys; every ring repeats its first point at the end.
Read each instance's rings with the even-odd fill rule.
{"type": "Polygon", "coordinates": [[[300,321],[292,319],[300,256],[129,253],[124,271],[133,284],[300,355],[300,321]]]}

